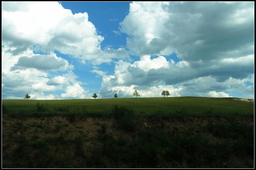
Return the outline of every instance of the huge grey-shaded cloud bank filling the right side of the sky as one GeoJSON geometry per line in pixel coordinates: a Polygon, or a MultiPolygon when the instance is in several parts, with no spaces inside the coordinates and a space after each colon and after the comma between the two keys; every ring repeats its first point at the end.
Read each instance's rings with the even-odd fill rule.
{"type": "Polygon", "coordinates": [[[120,31],[140,60],[119,60],[113,78],[103,76],[100,92],[119,87],[121,95],[141,89],[145,97],[173,89],[171,96],[252,97],[254,81],[245,82],[254,77],[253,25],[253,2],[133,2],[120,31]],[[167,61],[173,53],[181,61],[167,61]]]}

